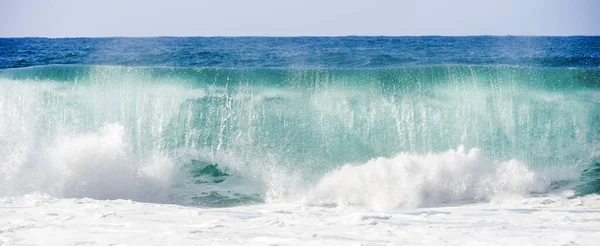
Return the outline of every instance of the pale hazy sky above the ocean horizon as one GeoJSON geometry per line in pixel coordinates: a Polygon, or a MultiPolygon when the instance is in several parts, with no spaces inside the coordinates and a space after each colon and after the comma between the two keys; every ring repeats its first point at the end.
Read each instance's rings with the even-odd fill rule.
{"type": "Polygon", "coordinates": [[[0,36],[600,35],[600,0],[0,0],[0,36]]]}

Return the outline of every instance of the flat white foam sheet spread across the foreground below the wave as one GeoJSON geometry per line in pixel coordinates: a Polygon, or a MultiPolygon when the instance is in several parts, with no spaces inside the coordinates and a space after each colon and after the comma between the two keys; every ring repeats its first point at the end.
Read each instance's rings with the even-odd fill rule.
{"type": "Polygon", "coordinates": [[[4,245],[596,245],[600,196],[374,212],[197,208],[37,194],[0,198],[4,245]]]}

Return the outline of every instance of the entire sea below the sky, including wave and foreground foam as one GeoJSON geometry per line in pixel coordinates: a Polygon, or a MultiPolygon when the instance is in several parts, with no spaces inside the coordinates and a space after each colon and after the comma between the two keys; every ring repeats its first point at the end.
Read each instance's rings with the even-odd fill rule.
{"type": "Polygon", "coordinates": [[[438,39],[2,40],[0,244],[595,245],[597,39],[438,39]]]}

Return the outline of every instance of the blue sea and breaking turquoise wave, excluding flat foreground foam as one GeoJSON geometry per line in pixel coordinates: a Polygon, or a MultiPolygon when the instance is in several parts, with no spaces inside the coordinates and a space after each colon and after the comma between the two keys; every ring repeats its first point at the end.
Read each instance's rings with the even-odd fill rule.
{"type": "Polygon", "coordinates": [[[0,39],[0,196],[598,192],[599,37],[0,39]]]}

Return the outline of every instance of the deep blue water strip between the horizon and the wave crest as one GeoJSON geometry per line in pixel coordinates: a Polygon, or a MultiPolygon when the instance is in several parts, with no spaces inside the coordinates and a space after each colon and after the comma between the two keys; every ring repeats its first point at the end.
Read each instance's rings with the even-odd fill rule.
{"type": "Polygon", "coordinates": [[[227,68],[600,66],[600,37],[0,39],[0,68],[49,64],[227,68]]]}

